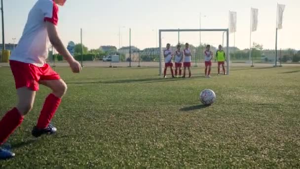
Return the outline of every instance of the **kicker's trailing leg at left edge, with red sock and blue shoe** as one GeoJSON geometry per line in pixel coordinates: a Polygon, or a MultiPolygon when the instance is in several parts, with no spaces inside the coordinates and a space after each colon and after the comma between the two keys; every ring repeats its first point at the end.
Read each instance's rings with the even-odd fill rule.
{"type": "MultiPolygon", "coordinates": [[[[24,116],[32,109],[36,91],[32,91],[28,87],[21,87],[17,89],[17,95],[17,106],[8,111],[0,121],[0,146],[21,125],[24,116]]],[[[9,159],[14,156],[14,153],[0,149],[0,159],[9,159]]]]}

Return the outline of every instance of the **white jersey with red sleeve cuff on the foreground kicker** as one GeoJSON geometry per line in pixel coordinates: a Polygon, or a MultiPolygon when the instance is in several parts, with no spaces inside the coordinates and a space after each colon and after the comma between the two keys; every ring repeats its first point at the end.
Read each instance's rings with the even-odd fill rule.
{"type": "Polygon", "coordinates": [[[42,67],[48,57],[46,21],[57,25],[58,6],[53,0],[38,0],[28,15],[22,37],[9,60],[42,67]]]}

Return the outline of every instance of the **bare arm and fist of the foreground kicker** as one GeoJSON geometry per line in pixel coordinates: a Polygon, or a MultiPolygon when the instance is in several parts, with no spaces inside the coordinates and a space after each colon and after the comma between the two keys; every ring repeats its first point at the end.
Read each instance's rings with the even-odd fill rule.
{"type": "Polygon", "coordinates": [[[51,44],[68,61],[72,71],[74,73],[79,73],[81,71],[81,66],[73,58],[73,56],[70,54],[70,52],[64,46],[63,42],[60,40],[57,30],[56,30],[56,26],[53,23],[46,21],[46,27],[47,27],[48,37],[49,37],[51,44]]]}

